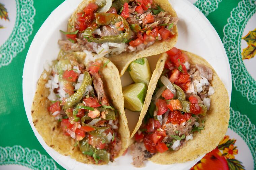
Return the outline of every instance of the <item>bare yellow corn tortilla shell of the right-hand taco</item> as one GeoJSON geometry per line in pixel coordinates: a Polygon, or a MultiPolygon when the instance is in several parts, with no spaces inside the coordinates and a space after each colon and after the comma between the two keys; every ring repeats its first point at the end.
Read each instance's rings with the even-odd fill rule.
{"type": "MultiPolygon", "coordinates": [[[[211,99],[211,107],[207,110],[206,116],[204,116],[204,130],[201,132],[194,132],[193,139],[188,140],[183,146],[183,148],[178,151],[166,151],[164,153],[157,153],[150,160],[157,164],[173,164],[173,163],[183,163],[187,161],[192,161],[199,156],[211,152],[215,149],[221,139],[224,137],[229,122],[229,98],[227,90],[213,69],[213,67],[202,57],[195,54],[182,51],[189,58],[190,64],[203,64],[213,70],[213,79],[210,81],[215,93],[209,98],[211,99]]],[[[167,55],[166,55],[167,58],[167,55]]],[[[156,68],[158,74],[153,74],[149,84],[149,89],[155,89],[157,81],[161,76],[164,69],[164,62],[160,63],[156,68]]],[[[156,71],[155,70],[155,71],[156,71]]],[[[146,102],[146,100],[145,100],[146,102]]],[[[147,103],[150,104],[151,98],[147,99],[147,103]]],[[[138,130],[142,120],[147,111],[141,111],[141,115],[135,130],[138,130]]],[[[132,135],[135,132],[132,133],[132,135]]]]}

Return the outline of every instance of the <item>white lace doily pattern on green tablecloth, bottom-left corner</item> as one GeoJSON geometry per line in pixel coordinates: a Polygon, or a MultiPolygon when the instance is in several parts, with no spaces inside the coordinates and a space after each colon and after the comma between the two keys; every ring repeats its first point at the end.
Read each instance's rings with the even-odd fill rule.
{"type": "Polygon", "coordinates": [[[0,147],[0,165],[22,165],[35,170],[59,170],[53,159],[41,155],[37,150],[13,147],[0,147]]]}

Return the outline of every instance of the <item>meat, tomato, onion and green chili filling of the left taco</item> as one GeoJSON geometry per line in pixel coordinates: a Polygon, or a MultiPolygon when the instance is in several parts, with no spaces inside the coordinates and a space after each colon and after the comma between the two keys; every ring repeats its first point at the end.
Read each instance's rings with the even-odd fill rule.
{"type": "Polygon", "coordinates": [[[121,149],[118,114],[110,106],[101,80],[101,61],[86,67],[77,53],[53,61],[48,83],[52,104],[47,108],[60,122],[63,134],[94,163],[113,161],[121,149]]]}

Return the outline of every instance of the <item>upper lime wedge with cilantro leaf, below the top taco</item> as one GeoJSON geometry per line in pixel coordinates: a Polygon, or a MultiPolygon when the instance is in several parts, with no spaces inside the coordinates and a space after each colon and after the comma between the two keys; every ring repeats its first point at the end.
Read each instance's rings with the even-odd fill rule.
{"type": "Polygon", "coordinates": [[[133,61],[130,64],[128,71],[135,83],[142,82],[147,84],[147,86],[149,85],[149,80],[152,76],[152,73],[147,58],[139,58],[133,61]]]}

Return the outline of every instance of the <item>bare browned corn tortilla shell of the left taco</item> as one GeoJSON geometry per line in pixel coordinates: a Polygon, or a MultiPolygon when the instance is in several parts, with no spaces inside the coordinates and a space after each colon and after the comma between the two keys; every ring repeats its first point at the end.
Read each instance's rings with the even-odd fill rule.
{"type": "MultiPolygon", "coordinates": [[[[83,52],[78,52],[79,54],[83,52]]],[[[85,58],[83,53],[80,57],[85,58]]],[[[100,59],[103,63],[109,61],[106,58],[100,59]]],[[[114,106],[116,110],[119,111],[119,133],[122,140],[122,148],[118,156],[121,156],[129,146],[129,128],[127,125],[127,119],[124,112],[124,99],[122,94],[121,79],[119,76],[118,69],[116,66],[109,62],[105,67],[100,70],[102,75],[102,81],[104,84],[104,90],[107,93],[107,97],[110,103],[114,106]],[[115,88],[113,88],[115,87],[115,88]]],[[[70,136],[64,135],[60,123],[54,119],[54,117],[49,113],[47,107],[50,106],[51,101],[47,99],[50,94],[49,89],[45,88],[45,84],[48,82],[48,76],[50,72],[43,71],[41,77],[37,83],[36,93],[33,99],[31,115],[33,123],[36,127],[38,133],[42,136],[45,143],[53,148],[55,151],[62,155],[69,155],[76,161],[92,164],[92,162],[84,155],[79,147],[75,145],[75,139],[70,136]],[[46,74],[47,77],[44,79],[43,75],[46,74]]],[[[101,164],[105,164],[102,162],[101,164]]]]}

